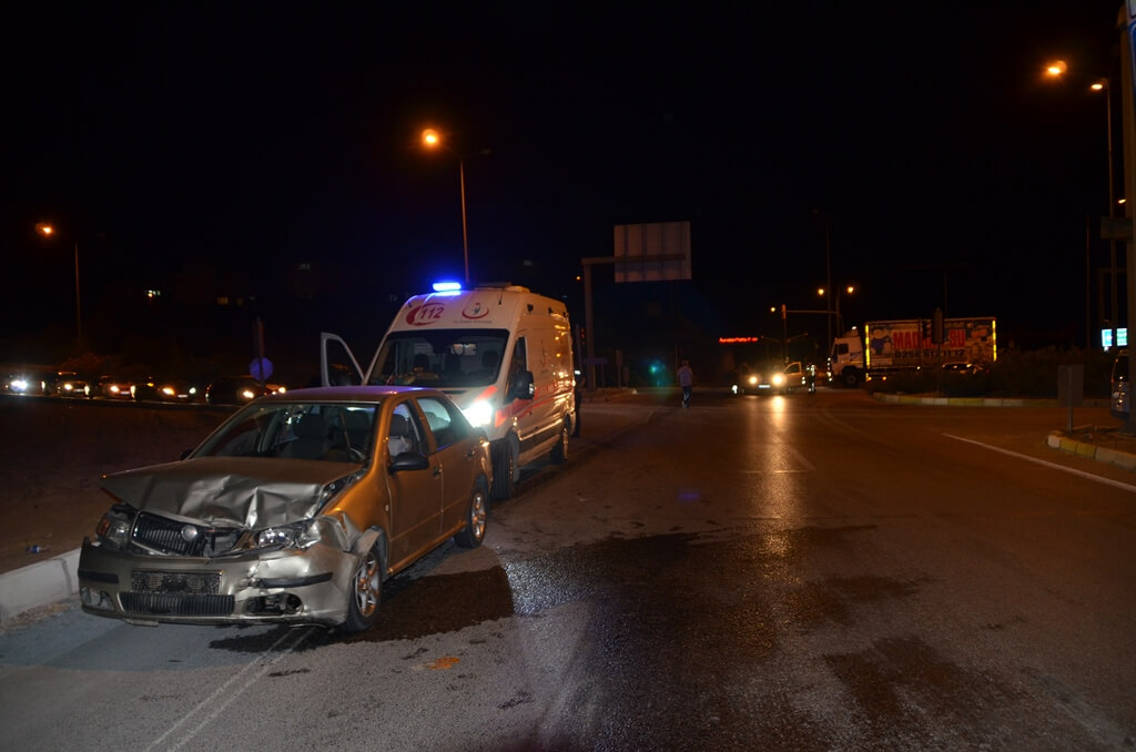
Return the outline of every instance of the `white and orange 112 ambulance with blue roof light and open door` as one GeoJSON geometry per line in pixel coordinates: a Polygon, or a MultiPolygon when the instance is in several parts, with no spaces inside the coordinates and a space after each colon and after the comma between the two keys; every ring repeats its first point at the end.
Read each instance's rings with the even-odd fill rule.
{"type": "Polygon", "coordinates": [[[342,337],[320,335],[324,385],[429,386],[448,394],[493,451],[494,499],[520,469],[568,459],[576,423],[567,306],[511,284],[435,285],[402,306],[364,370],[342,337]]]}

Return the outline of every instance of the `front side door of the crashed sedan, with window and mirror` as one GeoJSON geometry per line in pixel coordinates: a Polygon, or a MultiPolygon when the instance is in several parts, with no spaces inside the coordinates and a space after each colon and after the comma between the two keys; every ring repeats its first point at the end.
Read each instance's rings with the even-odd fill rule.
{"type": "Polygon", "coordinates": [[[393,406],[382,434],[386,483],[391,500],[391,555],[389,566],[401,569],[437,543],[442,530],[442,465],[431,451],[431,437],[412,401],[393,406]],[[398,457],[421,458],[395,467],[398,457]]]}

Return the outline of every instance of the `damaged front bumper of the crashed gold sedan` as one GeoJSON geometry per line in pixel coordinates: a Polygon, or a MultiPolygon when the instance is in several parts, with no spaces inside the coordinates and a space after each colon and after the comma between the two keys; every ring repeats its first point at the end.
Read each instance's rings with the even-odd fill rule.
{"type": "Polygon", "coordinates": [[[353,598],[357,557],[317,543],[224,559],[147,555],[84,538],[83,610],[132,624],[340,625],[353,598]]]}

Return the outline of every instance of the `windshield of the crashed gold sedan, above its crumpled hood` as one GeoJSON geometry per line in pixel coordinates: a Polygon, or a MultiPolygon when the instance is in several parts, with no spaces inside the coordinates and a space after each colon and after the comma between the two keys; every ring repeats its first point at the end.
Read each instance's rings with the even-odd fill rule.
{"type": "Polygon", "coordinates": [[[235,413],[191,457],[269,457],[362,463],[378,403],[267,402],[235,413]]]}

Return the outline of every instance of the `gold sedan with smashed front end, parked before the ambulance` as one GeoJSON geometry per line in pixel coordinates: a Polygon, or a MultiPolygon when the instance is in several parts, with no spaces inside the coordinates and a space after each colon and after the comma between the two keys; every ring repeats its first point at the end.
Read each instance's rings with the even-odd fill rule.
{"type": "Polygon", "coordinates": [[[176,462],[105,476],[83,610],[133,624],[315,623],[361,632],[383,582],[485,536],[490,446],[442,392],[265,396],[176,462]]]}

